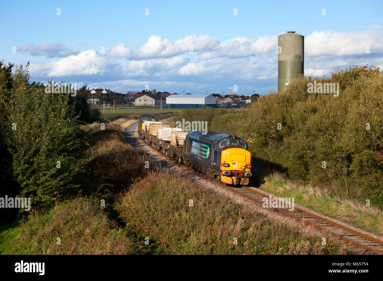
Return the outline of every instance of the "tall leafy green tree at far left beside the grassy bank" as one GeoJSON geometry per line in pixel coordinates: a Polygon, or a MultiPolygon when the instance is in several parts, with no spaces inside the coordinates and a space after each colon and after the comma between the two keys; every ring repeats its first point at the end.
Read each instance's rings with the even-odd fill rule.
{"type": "Polygon", "coordinates": [[[42,83],[30,84],[28,67],[13,75],[5,141],[18,195],[31,198],[31,210],[41,210],[77,187],[73,179],[83,171],[86,143],[70,93],[46,93],[42,83]]]}

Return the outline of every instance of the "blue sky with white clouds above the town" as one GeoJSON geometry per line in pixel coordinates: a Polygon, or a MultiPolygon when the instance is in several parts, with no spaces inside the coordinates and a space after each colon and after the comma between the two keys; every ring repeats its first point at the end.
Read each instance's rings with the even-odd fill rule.
{"type": "Polygon", "coordinates": [[[304,74],[383,69],[383,1],[5,1],[0,60],[32,81],[119,93],[277,91],[278,35],[304,36],[304,74]],[[148,85],[148,86],[146,86],[148,85]]]}

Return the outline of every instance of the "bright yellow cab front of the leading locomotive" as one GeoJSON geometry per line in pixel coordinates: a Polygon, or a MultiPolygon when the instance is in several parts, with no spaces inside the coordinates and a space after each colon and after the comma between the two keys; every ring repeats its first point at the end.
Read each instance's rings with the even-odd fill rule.
{"type": "Polygon", "coordinates": [[[251,153],[243,148],[228,148],[221,154],[221,181],[247,185],[251,177],[251,153]]]}

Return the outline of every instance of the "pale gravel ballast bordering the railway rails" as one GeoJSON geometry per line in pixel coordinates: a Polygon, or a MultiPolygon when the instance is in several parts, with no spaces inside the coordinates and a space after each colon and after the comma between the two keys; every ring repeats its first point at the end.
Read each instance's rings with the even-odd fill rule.
{"type": "MultiPolygon", "coordinates": [[[[243,205],[244,207],[246,207],[250,211],[252,211],[252,213],[254,213],[258,216],[264,217],[264,218],[266,218],[269,221],[272,221],[274,223],[282,223],[286,226],[292,226],[295,229],[297,229],[301,234],[308,234],[310,236],[312,236],[312,235],[323,236],[322,232],[319,231],[318,229],[311,227],[311,226],[307,226],[306,224],[298,222],[295,219],[283,216],[276,211],[272,211],[272,210],[268,210],[267,208],[263,208],[260,204],[255,203],[254,201],[247,199],[245,197],[242,197],[241,195],[239,195],[235,192],[232,192],[232,191],[222,187],[219,184],[216,184],[216,183],[214,183],[208,179],[205,179],[205,178],[195,174],[194,172],[191,172],[189,168],[179,164],[178,162],[175,162],[175,161],[169,159],[167,156],[165,156],[164,154],[155,150],[151,146],[147,145],[143,140],[141,140],[141,137],[138,135],[138,132],[137,132],[137,122],[130,125],[129,127],[125,128],[124,136],[125,136],[126,143],[129,143],[134,148],[142,149],[143,151],[147,151],[147,153],[149,153],[151,155],[152,162],[156,166],[160,166],[162,171],[167,171],[170,174],[180,175],[180,177],[185,177],[187,179],[190,179],[193,181],[194,184],[201,186],[201,187],[204,187],[204,188],[207,188],[210,192],[217,193],[219,195],[223,195],[224,197],[229,198],[232,202],[243,205]]],[[[254,188],[251,186],[248,186],[248,187],[254,188]]],[[[268,192],[260,190],[259,188],[254,188],[254,189],[256,189],[257,191],[265,193],[265,195],[266,195],[265,197],[268,197],[268,194],[269,194],[268,192]]],[[[270,194],[272,194],[272,193],[270,193],[270,194]]],[[[298,204],[295,204],[295,205],[298,206],[298,208],[302,208],[303,210],[308,210],[312,213],[316,213],[312,210],[309,210],[308,208],[306,208],[304,206],[300,206],[298,204]]],[[[319,215],[323,216],[322,214],[319,214],[319,215]]],[[[327,219],[335,221],[332,218],[327,218],[327,219]]],[[[338,222],[338,221],[336,221],[336,222],[341,223],[342,225],[345,225],[347,227],[355,229],[355,227],[349,226],[343,222],[338,222]]],[[[356,229],[356,230],[361,231],[360,229],[356,229]]],[[[370,233],[367,233],[367,232],[366,232],[366,234],[371,235],[370,233]]],[[[379,239],[379,237],[376,237],[376,238],[379,239]]],[[[344,243],[344,241],[342,241],[340,239],[337,239],[337,238],[333,238],[333,239],[339,243],[342,243],[342,242],[344,243]]],[[[352,247],[355,249],[354,246],[348,246],[348,247],[352,247]]],[[[363,253],[363,250],[360,250],[360,251],[361,251],[361,253],[363,253]]]]}

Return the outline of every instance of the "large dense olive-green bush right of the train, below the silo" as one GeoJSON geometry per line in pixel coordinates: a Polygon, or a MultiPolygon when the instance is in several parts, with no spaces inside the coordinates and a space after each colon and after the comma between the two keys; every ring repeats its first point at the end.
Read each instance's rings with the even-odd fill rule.
{"type": "Polygon", "coordinates": [[[307,85],[314,78],[301,77],[287,92],[260,99],[248,112],[246,132],[254,153],[281,164],[293,179],[329,184],[338,196],[371,195],[383,176],[377,161],[383,137],[382,78],[373,67],[350,68],[315,78],[339,83],[339,96],[309,94],[307,85]]]}

